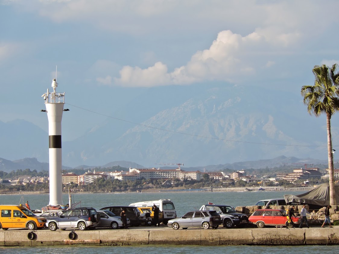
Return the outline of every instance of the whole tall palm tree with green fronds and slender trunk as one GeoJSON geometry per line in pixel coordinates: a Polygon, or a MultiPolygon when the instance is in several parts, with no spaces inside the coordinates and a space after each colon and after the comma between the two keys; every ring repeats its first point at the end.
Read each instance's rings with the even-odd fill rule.
{"type": "Polygon", "coordinates": [[[330,205],[336,205],[331,136],[331,117],[339,111],[339,72],[336,73],[336,69],[337,64],[334,64],[330,69],[324,64],[314,66],[312,70],[315,76],[314,86],[301,88],[301,95],[304,97],[308,113],[313,113],[316,117],[319,117],[321,113],[326,114],[330,205]]]}

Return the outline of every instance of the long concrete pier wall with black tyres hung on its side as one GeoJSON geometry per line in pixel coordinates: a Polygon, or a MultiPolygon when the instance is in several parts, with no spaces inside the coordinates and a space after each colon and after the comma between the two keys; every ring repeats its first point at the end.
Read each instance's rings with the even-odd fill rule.
{"type": "Polygon", "coordinates": [[[0,246],[53,245],[337,245],[339,227],[334,228],[246,228],[180,229],[133,228],[107,230],[0,230],[0,246]],[[74,239],[69,234],[75,232],[74,239]],[[32,239],[33,238],[33,239],[32,239]],[[32,239],[32,240],[31,240],[32,239]]]}

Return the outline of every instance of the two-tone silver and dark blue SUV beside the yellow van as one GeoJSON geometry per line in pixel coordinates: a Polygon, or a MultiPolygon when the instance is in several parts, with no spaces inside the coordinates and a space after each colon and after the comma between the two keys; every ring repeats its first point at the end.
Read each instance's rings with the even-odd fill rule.
{"type": "Polygon", "coordinates": [[[47,219],[46,227],[55,231],[58,228],[78,228],[86,230],[100,224],[100,214],[92,207],[71,208],[64,211],[60,217],[47,219]]]}

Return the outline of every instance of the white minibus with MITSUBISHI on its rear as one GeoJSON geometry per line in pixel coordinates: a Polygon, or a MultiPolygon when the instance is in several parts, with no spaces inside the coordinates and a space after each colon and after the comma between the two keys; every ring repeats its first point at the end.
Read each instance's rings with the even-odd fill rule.
{"type": "Polygon", "coordinates": [[[136,207],[152,207],[156,205],[159,207],[159,210],[164,213],[164,224],[166,225],[168,220],[174,219],[177,217],[177,213],[175,211],[175,207],[171,199],[160,199],[160,200],[153,200],[153,201],[142,201],[130,204],[129,206],[136,206],[136,207]]]}

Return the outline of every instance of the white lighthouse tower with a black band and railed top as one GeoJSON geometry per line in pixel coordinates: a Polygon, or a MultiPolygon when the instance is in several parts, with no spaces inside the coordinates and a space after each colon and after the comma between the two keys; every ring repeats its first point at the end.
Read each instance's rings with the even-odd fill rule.
{"type": "Polygon", "coordinates": [[[56,92],[57,79],[52,81],[53,92],[42,94],[45,100],[48,116],[49,135],[49,205],[63,205],[62,203],[62,154],[61,154],[61,120],[65,93],[56,92]]]}

